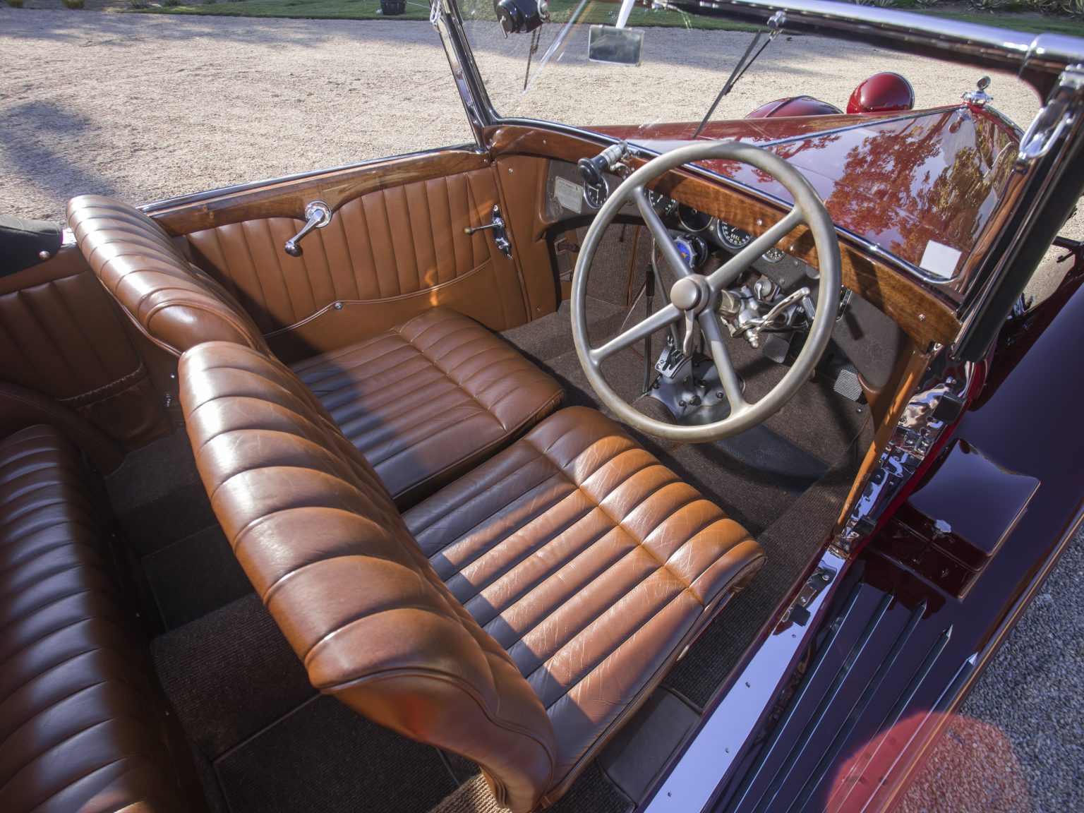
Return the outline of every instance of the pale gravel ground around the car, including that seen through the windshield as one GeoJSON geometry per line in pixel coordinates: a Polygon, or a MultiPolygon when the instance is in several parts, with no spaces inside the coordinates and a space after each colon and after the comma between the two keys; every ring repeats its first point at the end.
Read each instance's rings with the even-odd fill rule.
{"type": "MultiPolygon", "coordinates": [[[[584,125],[696,118],[749,40],[651,29],[635,73],[589,67],[582,48],[570,47],[535,72],[524,96],[527,38],[512,42],[519,50],[509,56],[495,26],[472,35],[487,80],[505,89],[491,88],[499,109],[584,125]],[[679,52],[694,67],[683,68],[675,87],[679,52]],[[631,80],[619,89],[614,80],[624,77],[631,80]]],[[[717,116],[803,92],[843,105],[879,69],[906,75],[920,105],[952,103],[979,76],[850,43],[780,38],[717,116]]],[[[1038,107],[1011,76],[995,76],[992,92],[1021,124],[1038,107]]],[[[144,203],[469,138],[447,61],[424,23],[0,7],[3,214],[60,219],[64,202],[79,193],[144,203]]],[[[1084,218],[1064,233],[1084,237],[1084,218]]],[[[1057,280],[1048,262],[1035,293],[1057,280]]],[[[1082,577],[1077,538],[966,704],[965,718],[975,720],[954,723],[931,759],[911,809],[1084,810],[1082,577]]]]}

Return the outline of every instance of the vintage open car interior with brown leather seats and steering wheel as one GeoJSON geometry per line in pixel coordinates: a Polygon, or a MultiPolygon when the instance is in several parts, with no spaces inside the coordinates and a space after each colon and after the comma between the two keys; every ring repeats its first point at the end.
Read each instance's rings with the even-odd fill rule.
{"type": "MultiPolygon", "coordinates": [[[[1008,177],[995,111],[892,99],[864,134],[1008,177]]],[[[0,809],[646,801],[805,624],[973,271],[860,238],[764,147],[855,114],[788,104],[4,221],[0,809]]]]}

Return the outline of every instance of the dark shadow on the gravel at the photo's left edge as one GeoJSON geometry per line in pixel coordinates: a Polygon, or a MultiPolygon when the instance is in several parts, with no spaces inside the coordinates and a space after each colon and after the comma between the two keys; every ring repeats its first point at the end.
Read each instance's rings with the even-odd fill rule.
{"type": "MultiPolygon", "coordinates": [[[[79,141],[93,153],[94,141],[88,138],[90,121],[51,102],[27,102],[11,107],[0,118],[0,164],[13,168],[50,194],[62,198],[90,193],[116,195],[116,186],[87,164],[65,158],[53,145],[59,141],[79,141]]],[[[2,212],[0,212],[2,214],[2,212]]]]}

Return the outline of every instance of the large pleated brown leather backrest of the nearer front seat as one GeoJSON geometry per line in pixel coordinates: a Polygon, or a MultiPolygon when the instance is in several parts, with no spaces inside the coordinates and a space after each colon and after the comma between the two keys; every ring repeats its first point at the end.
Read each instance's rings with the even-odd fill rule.
{"type": "Polygon", "coordinates": [[[222,341],[185,352],[180,384],[215,514],[312,684],[474,760],[499,803],[533,809],[554,770],[545,709],[305,385],[222,341]]]}

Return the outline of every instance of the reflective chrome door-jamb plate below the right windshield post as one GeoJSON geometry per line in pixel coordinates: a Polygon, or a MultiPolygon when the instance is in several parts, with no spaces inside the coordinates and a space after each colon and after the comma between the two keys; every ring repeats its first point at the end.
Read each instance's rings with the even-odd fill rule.
{"type": "Polygon", "coordinates": [[[945,429],[956,422],[965,405],[973,365],[956,365],[942,351],[926,382],[900,416],[877,467],[869,474],[862,494],[851,509],[834,544],[844,554],[876,530],[885,509],[929,455],[945,429]]]}

